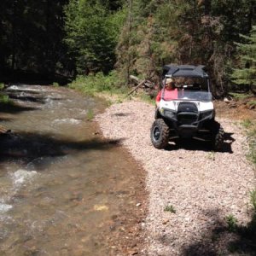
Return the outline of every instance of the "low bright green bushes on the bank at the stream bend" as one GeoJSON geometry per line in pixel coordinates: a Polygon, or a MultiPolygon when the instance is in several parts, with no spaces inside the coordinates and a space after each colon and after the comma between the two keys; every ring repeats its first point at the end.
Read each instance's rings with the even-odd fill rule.
{"type": "Polygon", "coordinates": [[[111,72],[108,75],[100,72],[96,75],[78,76],[69,86],[89,95],[94,95],[96,92],[125,93],[127,89],[120,87],[120,84],[122,81],[116,72],[111,72]]]}

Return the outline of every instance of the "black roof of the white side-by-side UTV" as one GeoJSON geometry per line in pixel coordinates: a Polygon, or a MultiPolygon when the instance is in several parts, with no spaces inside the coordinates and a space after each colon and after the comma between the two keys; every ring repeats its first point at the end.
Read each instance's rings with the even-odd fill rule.
{"type": "Polygon", "coordinates": [[[208,74],[204,70],[205,66],[179,65],[172,64],[163,67],[163,74],[167,77],[195,77],[208,78],[208,74]]]}

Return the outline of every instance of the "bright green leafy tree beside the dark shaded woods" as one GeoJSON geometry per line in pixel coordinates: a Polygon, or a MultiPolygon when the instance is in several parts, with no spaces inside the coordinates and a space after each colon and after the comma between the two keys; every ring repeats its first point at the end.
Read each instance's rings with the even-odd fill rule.
{"type": "Polygon", "coordinates": [[[65,8],[65,42],[76,59],[79,74],[104,73],[113,69],[123,13],[108,12],[99,1],[71,0],[65,8]]]}

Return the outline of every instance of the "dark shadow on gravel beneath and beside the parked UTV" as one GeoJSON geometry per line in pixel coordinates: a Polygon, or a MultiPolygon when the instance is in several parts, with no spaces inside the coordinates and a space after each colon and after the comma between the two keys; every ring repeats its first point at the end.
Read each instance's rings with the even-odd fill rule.
{"type": "MultiPolygon", "coordinates": [[[[232,143],[236,140],[232,137],[234,133],[224,133],[224,145],[221,151],[223,153],[233,153],[232,143]]],[[[172,143],[169,143],[166,150],[177,150],[177,149],[187,149],[187,150],[200,150],[200,151],[212,151],[211,143],[201,142],[196,139],[176,139],[172,143]]]]}

